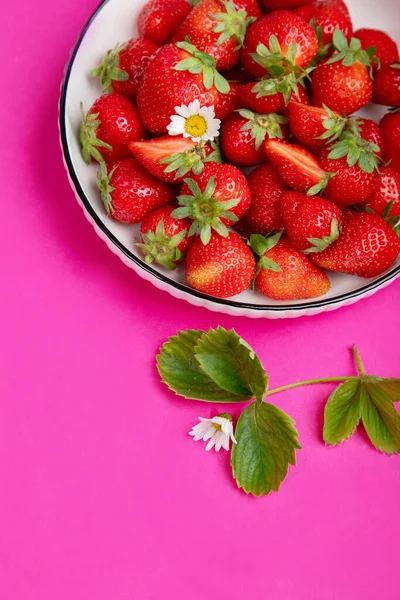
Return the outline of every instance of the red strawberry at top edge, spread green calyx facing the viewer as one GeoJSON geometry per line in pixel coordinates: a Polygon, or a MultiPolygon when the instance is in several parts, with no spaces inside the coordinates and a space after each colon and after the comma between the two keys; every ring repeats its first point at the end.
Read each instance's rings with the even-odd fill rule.
{"type": "MultiPolygon", "coordinates": [[[[242,0],[242,5],[246,4],[242,0]]],[[[254,2],[239,8],[232,1],[201,0],[178,28],[173,41],[189,39],[198,50],[216,60],[218,70],[227,71],[238,63],[247,27],[259,16],[261,11],[254,2]]]]}

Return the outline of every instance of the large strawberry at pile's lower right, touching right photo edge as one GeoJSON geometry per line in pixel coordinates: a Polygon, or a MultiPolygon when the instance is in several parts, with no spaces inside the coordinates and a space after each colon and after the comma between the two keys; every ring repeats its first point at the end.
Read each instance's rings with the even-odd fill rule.
{"type": "Polygon", "coordinates": [[[399,252],[399,239],[382,217],[345,210],[339,239],[311,259],[330,271],[377,277],[391,267],[399,252]]]}

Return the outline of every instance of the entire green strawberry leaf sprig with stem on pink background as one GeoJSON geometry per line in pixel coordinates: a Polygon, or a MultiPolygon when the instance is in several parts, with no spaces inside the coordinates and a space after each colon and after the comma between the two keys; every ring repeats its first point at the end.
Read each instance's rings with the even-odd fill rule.
{"type": "Polygon", "coordinates": [[[340,382],[330,395],[323,438],[335,446],[348,440],[360,421],[375,448],[400,454],[400,379],[367,375],[355,347],[358,374],[312,379],[269,389],[269,377],[254,350],[234,330],[222,327],[180,331],[161,347],[158,372],[170,390],[188,400],[250,404],[236,425],[231,454],[239,488],[254,496],[277,492],[301,450],[293,419],[266,400],[301,386],[340,382]]]}

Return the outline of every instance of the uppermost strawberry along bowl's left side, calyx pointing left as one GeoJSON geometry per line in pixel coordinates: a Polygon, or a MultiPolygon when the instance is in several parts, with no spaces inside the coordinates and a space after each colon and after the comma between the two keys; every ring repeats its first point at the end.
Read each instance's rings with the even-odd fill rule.
{"type": "Polygon", "coordinates": [[[100,77],[104,91],[110,88],[118,94],[136,98],[143,72],[157,46],[144,38],[117,44],[106,52],[102,64],[91,75],[100,77]]]}

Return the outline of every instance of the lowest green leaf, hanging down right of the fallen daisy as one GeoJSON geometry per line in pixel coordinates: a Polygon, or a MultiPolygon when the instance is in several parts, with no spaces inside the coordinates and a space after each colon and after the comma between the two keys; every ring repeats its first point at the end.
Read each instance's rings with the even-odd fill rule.
{"type": "Polygon", "coordinates": [[[265,402],[253,402],[236,426],[231,465],[238,487],[254,496],[277,492],[300,450],[294,421],[265,402]]]}

